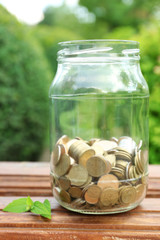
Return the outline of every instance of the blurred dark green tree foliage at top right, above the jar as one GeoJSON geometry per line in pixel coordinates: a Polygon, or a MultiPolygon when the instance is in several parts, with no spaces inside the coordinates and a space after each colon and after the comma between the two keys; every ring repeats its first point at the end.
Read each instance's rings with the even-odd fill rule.
{"type": "Polygon", "coordinates": [[[96,16],[96,22],[105,22],[110,29],[119,26],[138,27],[148,23],[159,10],[159,0],[80,0],[80,4],[96,16]]]}

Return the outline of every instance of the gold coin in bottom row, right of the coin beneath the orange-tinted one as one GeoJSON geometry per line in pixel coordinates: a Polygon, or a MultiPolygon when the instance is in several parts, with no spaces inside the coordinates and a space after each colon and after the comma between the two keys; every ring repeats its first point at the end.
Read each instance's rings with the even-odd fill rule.
{"type": "Polygon", "coordinates": [[[133,203],[136,199],[136,190],[134,187],[125,186],[121,190],[121,202],[124,204],[133,203]]]}

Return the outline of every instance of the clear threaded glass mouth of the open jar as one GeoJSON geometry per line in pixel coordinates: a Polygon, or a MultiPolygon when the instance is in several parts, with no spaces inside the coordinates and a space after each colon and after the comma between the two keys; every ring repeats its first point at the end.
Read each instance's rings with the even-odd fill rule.
{"type": "MultiPolygon", "coordinates": [[[[100,58],[139,60],[139,42],[132,40],[96,39],[59,43],[58,60],[88,61],[100,58]],[[74,60],[73,60],[74,59],[74,60]]],[[[97,59],[96,59],[97,60],[97,59]]]]}

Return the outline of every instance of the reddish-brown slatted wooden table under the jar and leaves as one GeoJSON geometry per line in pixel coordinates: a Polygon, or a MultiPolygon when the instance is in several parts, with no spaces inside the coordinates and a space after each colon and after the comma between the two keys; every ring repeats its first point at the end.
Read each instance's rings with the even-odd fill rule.
{"type": "Polygon", "coordinates": [[[52,220],[27,213],[0,211],[0,240],[136,240],[160,239],[160,165],[149,167],[147,197],[139,207],[115,215],[82,215],[70,212],[52,197],[48,163],[0,162],[0,210],[13,199],[48,198],[52,220]]]}

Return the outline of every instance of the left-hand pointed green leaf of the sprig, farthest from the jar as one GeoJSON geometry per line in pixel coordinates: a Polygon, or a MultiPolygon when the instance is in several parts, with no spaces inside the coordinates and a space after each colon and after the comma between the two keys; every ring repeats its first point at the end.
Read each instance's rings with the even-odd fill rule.
{"type": "Polygon", "coordinates": [[[5,208],[3,208],[4,212],[14,212],[21,213],[27,212],[27,198],[19,198],[9,203],[5,208]]]}

